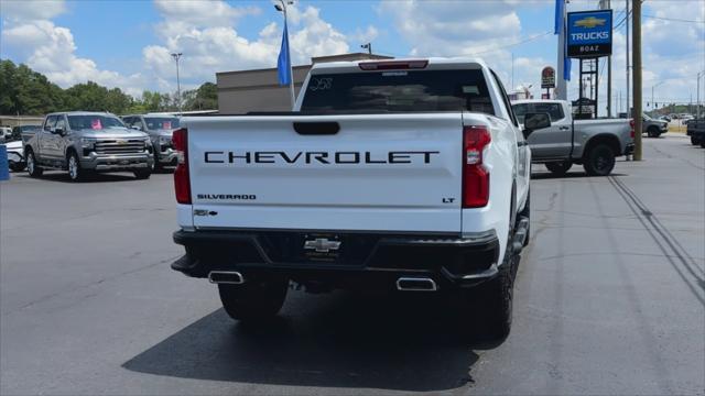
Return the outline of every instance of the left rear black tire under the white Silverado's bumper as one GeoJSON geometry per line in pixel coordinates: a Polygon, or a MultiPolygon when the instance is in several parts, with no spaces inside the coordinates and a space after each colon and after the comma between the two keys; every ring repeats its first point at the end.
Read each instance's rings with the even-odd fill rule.
{"type": "Polygon", "coordinates": [[[289,279],[246,280],[242,285],[219,284],[223,308],[235,320],[271,319],[284,305],[289,279]]]}

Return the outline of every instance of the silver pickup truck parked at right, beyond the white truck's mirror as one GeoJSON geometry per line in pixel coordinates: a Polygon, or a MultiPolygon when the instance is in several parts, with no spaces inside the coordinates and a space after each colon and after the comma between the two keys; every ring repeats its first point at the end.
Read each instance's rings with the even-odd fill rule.
{"type": "Polygon", "coordinates": [[[527,113],[551,117],[551,127],[534,131],[528,141],[532,162],[544,164],[555,175],[579,164],[590,176],[607,176],[616,157],[634,150],[633,120],[575,120],[567,100],[517,100],[511,106],[520,123],[527,113]]]}

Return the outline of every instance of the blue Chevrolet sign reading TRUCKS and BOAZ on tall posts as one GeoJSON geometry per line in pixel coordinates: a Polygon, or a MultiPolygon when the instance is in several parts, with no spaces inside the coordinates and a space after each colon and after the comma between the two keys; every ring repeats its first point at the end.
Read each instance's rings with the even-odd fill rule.
{"type": "Polygon", "coordinates": [[[612,10],[568,12],[570,57],[600,57],[612,53],[612,10]]]}

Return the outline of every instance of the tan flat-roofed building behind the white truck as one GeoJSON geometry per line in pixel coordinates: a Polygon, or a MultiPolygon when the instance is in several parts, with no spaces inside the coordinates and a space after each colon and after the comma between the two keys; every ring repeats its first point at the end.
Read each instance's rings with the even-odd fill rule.
{"type": "MultiPolygon", "coordinates": [[[[294,89],[299,95],[308,70],[317,63],[392,58],[367,53],[313,57],[311,65],[293,67],[294,89]]],[[[290,88],[279,85],[276,68],[217,73],[216,81],[218,85],[218,112],[221,114],[291,110],[290,88]]]]}

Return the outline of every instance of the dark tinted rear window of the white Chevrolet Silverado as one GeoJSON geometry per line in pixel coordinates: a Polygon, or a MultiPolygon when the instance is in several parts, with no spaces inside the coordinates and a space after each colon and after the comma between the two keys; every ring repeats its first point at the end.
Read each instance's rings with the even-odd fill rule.
{"type": "Polygon", "coordinates": [[[466,110],[495,114],[481,70],[380,70],[313,75],[301,110],[466,110]]]}

